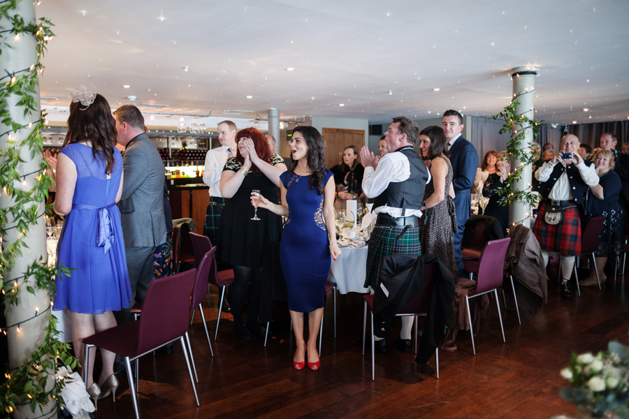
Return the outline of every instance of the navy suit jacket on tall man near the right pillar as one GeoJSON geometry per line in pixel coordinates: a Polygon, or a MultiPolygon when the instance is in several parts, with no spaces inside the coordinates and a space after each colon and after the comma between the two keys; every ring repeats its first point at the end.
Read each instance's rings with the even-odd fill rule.
{"type": "Polygon", "coordinates": [[[454,186],[454,207],[459,226],[470,218],[472,195],[470,188],[474,184],[478,167],[478,152],[471,142],[463,135],[457,138],[450,147],[450,163],[452,165],[452,186],[454,186]]]}

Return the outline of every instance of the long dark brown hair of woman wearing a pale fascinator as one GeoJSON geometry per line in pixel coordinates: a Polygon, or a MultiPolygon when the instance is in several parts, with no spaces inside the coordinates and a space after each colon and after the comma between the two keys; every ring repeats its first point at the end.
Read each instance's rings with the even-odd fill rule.
{"type": "Polygon", "coordinates": [[[87,108],[80,102],[70,105],[68,133],[63,147],[86,141],[92,142],[94,160],[97,156],[104,159],[105,170],[110,175],[115,163],[113,149],[116,144],[116,122],[107,99],[99,94],[96,94],[94,103],[87,108]]]}

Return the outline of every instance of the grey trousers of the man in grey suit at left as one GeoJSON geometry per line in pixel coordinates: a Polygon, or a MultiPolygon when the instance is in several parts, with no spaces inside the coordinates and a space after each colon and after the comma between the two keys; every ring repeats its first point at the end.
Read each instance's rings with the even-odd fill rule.
{"type": "Polygon", "coordinates": [[[148,286],[153,280],[153,261],[155,247],[126,247],[126,268],[129,270],[129,284],[133,301],[129,307],[121,311],[114,311],[114,316],[119,325],[133,321],[133,315],[129,312],[136,302],[144,300],[148,286]]]}

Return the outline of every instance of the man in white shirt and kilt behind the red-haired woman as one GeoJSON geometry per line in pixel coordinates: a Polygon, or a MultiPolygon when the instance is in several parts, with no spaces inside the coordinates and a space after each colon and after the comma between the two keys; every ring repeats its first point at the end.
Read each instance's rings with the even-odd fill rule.
{"type": "MultiPolygon", "coordinates": [[[[205,223],[203,235],[210,238],[212,246],[216,246],[218,237],[219,219],[225,205],[225,198],[221,195],[219,184],[225,163],[229,157],[236,157],[236,124],[231,121],[223,121],[218,124],[217,133],[221,147],[210,149],[205,154],[205,168],[203,169],[203,183],[210,186],[210,203],[205,211],[205,223]]],[[[223,311],[230,312],[231,306],[226,297],[223,302],[223,311]]]]}

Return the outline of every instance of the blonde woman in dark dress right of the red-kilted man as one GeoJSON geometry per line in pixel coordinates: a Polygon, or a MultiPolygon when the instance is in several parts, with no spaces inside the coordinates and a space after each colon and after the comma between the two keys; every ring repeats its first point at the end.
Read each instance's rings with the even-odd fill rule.
{"type": "MultiPolygon", "coordinates": [[[[607,263],[608,256],[619,256],[623,251],[623,207],[618,203],[621,191],[621,179],[614,172],[616,166],[616,156],[606,149],[599,149],[593,155],[596,174],[599,177],[598,185],[590,188],[587,195],[586,219],[593,219],[598,216],[605,217],[600,230],[600,240],[598,250],[594,253],[596,267],[601,284],[605,282],[605,272],[603,268],[607,263]]],[[[596,273],[591,268],[590,276],[583,281],[579,281],[582,286],[598,286],[596,273]]]]}

